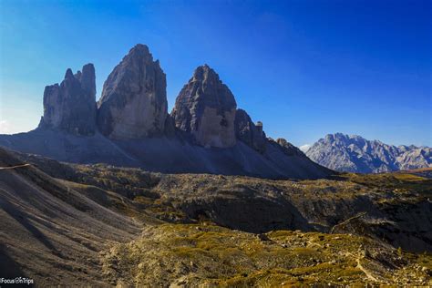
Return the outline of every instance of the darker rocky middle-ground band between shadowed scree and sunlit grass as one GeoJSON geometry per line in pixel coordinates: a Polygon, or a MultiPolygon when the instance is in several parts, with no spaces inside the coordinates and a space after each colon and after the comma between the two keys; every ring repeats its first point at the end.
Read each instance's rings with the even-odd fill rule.
{"type": "Polygon", "coordinates": [[[70,166],[37,156],[24,157],[58,179],[114,191],[138,202],[148,213],[160,211],[159,216],[153,216],[162,220],[207,220],[256,233],[281,229],[342,231],[386,240],[414,252],[432,250],[432,180],[414,174],[262,180],[159,174],[106,165],[70,166]],[[352,221],[346,222],[348,219],[352,221]]]}

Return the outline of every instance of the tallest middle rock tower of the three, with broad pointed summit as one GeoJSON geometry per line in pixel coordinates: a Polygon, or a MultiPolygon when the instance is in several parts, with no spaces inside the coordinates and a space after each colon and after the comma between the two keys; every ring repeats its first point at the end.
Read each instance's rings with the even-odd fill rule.
{"type": "Polygon", "coordinates": [[[98,101],[98,129],[111,139],[163,134],[168,116],[167,82],[148,46],[130,49],[105,81],[98,101]]]}

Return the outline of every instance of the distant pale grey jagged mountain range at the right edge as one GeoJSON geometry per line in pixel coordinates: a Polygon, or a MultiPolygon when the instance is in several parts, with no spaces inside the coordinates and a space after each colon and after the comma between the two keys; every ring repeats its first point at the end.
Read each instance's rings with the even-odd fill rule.
{"type": "Polygon", "coordinates": [[[348,172],[379,173],[432,167],[431,148],[396,147],[342,133],[319,139],[306,155],[329,169],[348,172]]]}

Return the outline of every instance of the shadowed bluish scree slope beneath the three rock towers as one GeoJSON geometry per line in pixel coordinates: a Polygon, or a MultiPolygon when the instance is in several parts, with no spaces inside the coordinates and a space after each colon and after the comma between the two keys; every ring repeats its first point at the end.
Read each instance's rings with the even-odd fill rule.
{"type": "Polygon", "coordinates": [[[264,153],[238,141],[231,148],[210,148],[178,138],[111,140],[96,134],[80,137],[36,129],[0,135],[0,146],[73,163],[106,163],[162,173],[247,175],[269,179],[318,179],[332,174],[306,156],[286,155],[268,145],[264,153]]]}

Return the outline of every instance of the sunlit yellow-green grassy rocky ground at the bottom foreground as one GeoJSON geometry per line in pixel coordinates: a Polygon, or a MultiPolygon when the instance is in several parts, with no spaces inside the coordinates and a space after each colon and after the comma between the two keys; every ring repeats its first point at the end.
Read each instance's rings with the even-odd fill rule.
{"type": "Polygon", "coordinates": [[[166,224],[102,255],[111,283],[180,287],[432,284],[430,255],[347,234],[166,224]]]}

